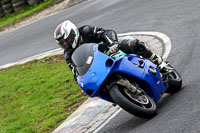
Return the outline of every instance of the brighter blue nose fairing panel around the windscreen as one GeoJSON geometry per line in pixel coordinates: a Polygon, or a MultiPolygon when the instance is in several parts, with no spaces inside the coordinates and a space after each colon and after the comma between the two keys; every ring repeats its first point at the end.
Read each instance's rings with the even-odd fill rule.
{"type": "Polygon", "coordinates": [[[112,67],[106,66],[106,61],[108,59],[111,58],[106,54],[99,52],[98,45],[95,45],[94,59],[90,69],[85,75],[77,77],[79,86],[85,92],[87,92],[88,89],[93,90],[92,94],[88,94],[90,97],[93,97],[96,94],[112,69],[112,67]]]}

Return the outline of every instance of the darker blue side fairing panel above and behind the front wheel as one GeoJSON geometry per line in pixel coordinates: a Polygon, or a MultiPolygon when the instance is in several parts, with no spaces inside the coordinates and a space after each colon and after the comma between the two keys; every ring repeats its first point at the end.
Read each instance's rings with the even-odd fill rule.
{"type": "Polygon", "coordinates": [[[144,58],[140,58],[137,55],[126,55],[116,61],[111,74],[115,72],[122,72],[140,80],[140,87],[145,90],[155,101],[157,101],[160,98],[160,94],[165,91],[158,68],[152,62],[144,58]],[[140,60],[144,61],[142,67],[138,67],[140,60]],[[154,76],[149,70],[150,66],[156,69],[156,76],[154,76]]]}

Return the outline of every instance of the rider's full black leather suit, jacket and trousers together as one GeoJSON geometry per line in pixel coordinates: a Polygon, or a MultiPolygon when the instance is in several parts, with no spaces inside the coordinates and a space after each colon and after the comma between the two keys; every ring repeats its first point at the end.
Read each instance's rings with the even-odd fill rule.
{"type": "MultiPolygon", "coordinates": [[[[80,32],[80,44],[84,43],[100,43],[103,42],[103,44],[106,47],[110,47],[113,44],[118,42],[117,33],[113,30],[105,30],[103,28],[97,28],[93,26],[82,26],[79,28],[80,32]]],[[[119,42],[119,49],[127,54],[138,54],[145,58],[150,58],[153,53],[150,49],[148,49],[145,44],[137,39],[135,40],[122,40],[119,42]]],[[[74,78],[76,80],[76,72],[71,60],[72,53],[74,52],[74,49],[69,48],[65,49],[64,51],[64,58],[74,73],[74,78]]]]}

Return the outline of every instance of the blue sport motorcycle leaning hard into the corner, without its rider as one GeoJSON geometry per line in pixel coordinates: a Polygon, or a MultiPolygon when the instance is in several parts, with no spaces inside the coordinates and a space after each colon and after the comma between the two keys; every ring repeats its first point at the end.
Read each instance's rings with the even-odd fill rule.
{"type": "Polygon", "coordinates": [[[87,43],[72,54],[77,83],[90,97],[100,97],[142,118],[157,114],[156,103],[163,93],[181,89],[179,73],[168,63],[164,73],[151,61],[118,51],[105,53],[101,45],[87,43]]]}

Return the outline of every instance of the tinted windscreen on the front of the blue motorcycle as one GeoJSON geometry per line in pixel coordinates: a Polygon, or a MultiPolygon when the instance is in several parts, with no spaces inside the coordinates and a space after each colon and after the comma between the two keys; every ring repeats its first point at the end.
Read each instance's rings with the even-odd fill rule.
{"type": "Polygon", "coordinates": [[[72,61],[80,76],[87,73],[94,58],[94,44],[87,43],[79,46],[72,54],[72,61]]]}

